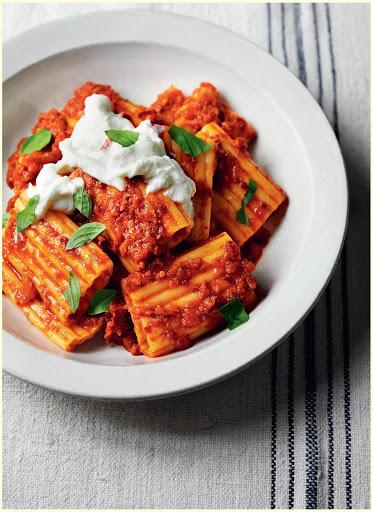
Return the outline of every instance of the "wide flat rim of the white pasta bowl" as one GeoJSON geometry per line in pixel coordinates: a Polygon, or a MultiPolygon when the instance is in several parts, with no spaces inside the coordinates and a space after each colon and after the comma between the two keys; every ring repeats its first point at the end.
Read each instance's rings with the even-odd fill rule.
{"type": "MultiPolygon", "coordinates": [[[[244,79],[247,79],[247,71],[242,66],[239,68],[240,56],[245,55],[246,59],[251,58],[253,61],[259,59],[259,82],[265,84],[274,74],[276,77],[279,76],[276,91],[271,91],[271,95],[274,96],[276,103],[281,102],[285,105],[284,111],[300,136],[301,144],[312,162],[312,169],[331,168],[330,166],[338,169],[336,182],[333,184],[334,195],[321,207],[322,268],[319,268],[317,273],[312,267],[315,258],[321,258],[320,253],[315,250],[316,244],[312,246],[310,240],[314,240],[320,231],[318,232],[310,222],[309,239],[294,269],[294,275],[289,279],[295,286],[299,284],[297,278],[299,281],[302,271],[310,272],[307,282],[303,279],[302,291],[305,296],[300,296],[294,301],[297,303],[293,304],[294,309],[285,321],[271,317],[270,330],[260,333],[264,341],[263,350],[248,350],[248,344],[244,344],[245,326],[242,326],[229,333],[231,342],[237,344],[237,349],[233,353],[227,353],[226,344],[216,344],[195,353],[188,354],[186,351],[185,356],[180,358],[158,360],[157,364],[106,367],[56,357],[22,342],[8,332],[3,334],[3,368],[16,377],[53,391],[81,397],[149,400],[200,389],[241,371],[275,348],[303,321],[323,293],[338,262],[347,229],[348,187],[346,170],[335,134],[324,112],[305,86],[278,60],[243,36],[191,16],[145,9],[126,9],[80,14],[42,24],[9,39],[4,44],[4,81],[32,64],[64,51],[97,44],[126,42],[161,42],[168,46],[192,50],[214,60],[215,50],[218,49],[220,57],[223,57],[222,62],[226,62],[229,57],[230,67],[244,79]],[[142,27],[140,31],[135,23],[139,17],[142,27]],[[100,31],[101,24],[108,22],[111,23],[111,30],[100,31]],[[168,30],[157,31],[160,23],[167,23],[168,30]],[[191,23],[193,38],[185,38],[183,34],[190,30],[191,23]],[[123,29],[123,24],[126,25],[126,30],[123,29]],[[67,28],[71,37],[62,37],[66,34],[67,28]],[[140,32],[142,39],[139,40],[140,32]],[[40,45],[41,38],[51,41],[51,44],[48,47],[40,45]],[[208,47],[202,44],[206,39],[210,42],[208,47]],[[307,116],[296,110],[295,102],[288,97],[289,88],[292,91],[292,98],[296,95],[302,101],[307,116]],[[317,130],[310,129],[308,124],[316,124],[317,130]],[[321,146],[320,141],[323,143],[321,146]],[[323,150],[322,147],[327,149],[323,150]],[[165,371],[162,372],[162,368],[165,371]],[[188,371],[185,371],[186,368],[188,371]],[[141,388],[139,383],[144,383],[144,379],[146,386],[143,385],[141,388]]],[[[325,194],[324,191],[322,194],[325,194]]],[[[278,307],[277,316],[285,312],[286,308],[278,307]]]]}

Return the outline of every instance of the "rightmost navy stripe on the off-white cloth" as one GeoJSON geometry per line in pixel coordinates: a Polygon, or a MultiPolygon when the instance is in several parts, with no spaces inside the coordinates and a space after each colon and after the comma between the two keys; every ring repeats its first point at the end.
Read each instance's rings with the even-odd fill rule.
{"type": "MultiPolygon", "coordinates": [[[[333,46],[333,32],[329,4],[325,4],[326,21],[328,27],[329,52],[333,81],[333,119],[334,131],[339,140],[339,119],[337,103],[337,73],[333,46]]],[[[342,345],[343,345],[343,383],[344,383],[344,415],[345,415],[345,470],[346,470],[346,508],[352,508],[352,471],[351,471],[351,395],[350,395],[350,347],[349,347],[349,300],[348,300],[348,255],[347,240],[341,255],[341,285],[342,285],[342,345]]]]}

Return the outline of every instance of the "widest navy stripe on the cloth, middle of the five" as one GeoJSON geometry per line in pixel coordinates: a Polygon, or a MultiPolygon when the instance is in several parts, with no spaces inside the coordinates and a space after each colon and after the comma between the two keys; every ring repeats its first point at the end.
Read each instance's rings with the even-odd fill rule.
{"type": "MultiPolygon", "coordinates": [[[[301,6],[294,5],[295,36],[299,78],[307,85],[307,72],[301,25],[301,6]]],[[[305,415],[306,415],[306,508],[317,508],[318,439],[316,420],[315,311],[304,323],[305,415]]]]}

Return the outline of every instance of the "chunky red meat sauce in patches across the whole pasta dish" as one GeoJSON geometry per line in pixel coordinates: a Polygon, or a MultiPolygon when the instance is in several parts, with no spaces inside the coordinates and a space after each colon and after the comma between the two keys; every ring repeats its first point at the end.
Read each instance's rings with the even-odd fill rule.
{"type": "MultiPolygon", "coordinates": [[[[185,97],[177,88],[170,87],[160,94],[150,107],[144,107],[128,102],[109,85],[86,82],[75,91],[74,96],[60,112],[53,108],[39,116],[31,132],[36,133],[44,128],[52,131],[52,141],[46,148],[23,155],[20,153],[20,147],[25,141],[23,138],[8,158],[7,184],[15,190],[15,197],[29,183],[35,182],[44,164],[55,163],[61,158],[59,143],[71,135],[73,127],[84,111],[84,101],[91,94],[106,95],[111,101],[113,111],[127,117],[135,125],[143,119],[150,119],[153,123],[165,126],[176,124],[197,133],[206,123],[214,121],[222,126],[235,140],[237,147],[243,150],[256,139],[254,128],[238,116],[222,99],[217,89],[209,83],[202,83],[189,97],[185,97]]],[[[220,180],[221,183],[227,179],[239,180],[239,169],[229,162],[229,157],[221,155],[220,158],[221,169],[216,180],[220,180]]],[[[193,160],[187,155],[185,165],[193,165],[193,160]]],[[[157,201],[154,194],[151,200],[147,199],[132,181],[128,183],[124,192],[118,191],[100,183],[80,169],[75,169],[71,176],[83,178],[84,186],[93,200],[94,208],[90,220],[103,222],[112,233],[110,242],[103,236],[96,242],[100,247],[107,249],[108,246],[113,253],[130,258],[139,264],[140,271],[124,278],[121,275],[124,293],[162,279],[168,279],[170,287],[184,284],[191,291],[198,292],[199,299],[185,308],[179,309],[169,304],[167,307],[155,306],[143,311],[144,315],[150,317],[152,324],[162,327],[164,336],[169,338],[175,348],[182,349],[191,345],[192,340],[187,335],[188,329],[201,323],[220,323],[221,314],[218,308],[232,298],[239,298],[247,308],[253,307],[254,264],[240,257],[239,248],[233,242],[226,245],[224,256],[218,262],[214,262],[214,278],[211,281],[198,286],[190,284],[193,276],[202,270],[208,270],[209,265],[198,258],[179,264],[173,263],[172,254],[159,257],[166,252],[168,237],[164,226],[164,204],[157,201]],[[176,325],[177,328],[171,325],[176,325]]],[[[200,195],[211,194],[209,190],[204,190],[202,183],[197,183],[197,190],[200,195]]],[[[13,208],[14,201],[15,198],[12,198],[8,210],[13,208]]],[[[78,213],[74,214],[73,219],[78,225],[85,222],[84,217],[78,213]]],[[[8,223],[7,230],[12,231],[13,243],[18,244],[18,250],[21,250],[23,238],[14,235],[14,215],[8,223]]],[[[263,243],[263,240],[252,242],[250,258],[259,258],[263,243]]],[[[6,252],[5,247],[5,258],[6,252]]],[[[22,276],[22,279],[30,281],[30,295],[27,297],[27,300],[30,300],[37,292],[27,275],[22,276]]],[[[117,279],[114,284],[115,287],[119,288],[119,280],[117,279]]],[[[19,297],[20,305],[25,300],[25,297],[19,297]]],[[[105,342],[123,345],[132,354],[139,354],[140,349],[131,317],[120,294],[114,299],[104,317],[105,342]]],[[[86,320],[82,317],[82,323],[84,322],[86,320]]]]}

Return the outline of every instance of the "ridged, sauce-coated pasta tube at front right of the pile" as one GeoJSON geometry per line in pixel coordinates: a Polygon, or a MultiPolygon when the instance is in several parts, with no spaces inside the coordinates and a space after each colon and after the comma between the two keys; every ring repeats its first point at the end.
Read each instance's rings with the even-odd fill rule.
{"type": "Polygon", "coordinates": [[[123,294],[142,353],[156,357],[190,346],[223,322],[219,307],[234,298],[252,307],[253,268],[222,233],[162,270],[124,278],[123,294]]]}

